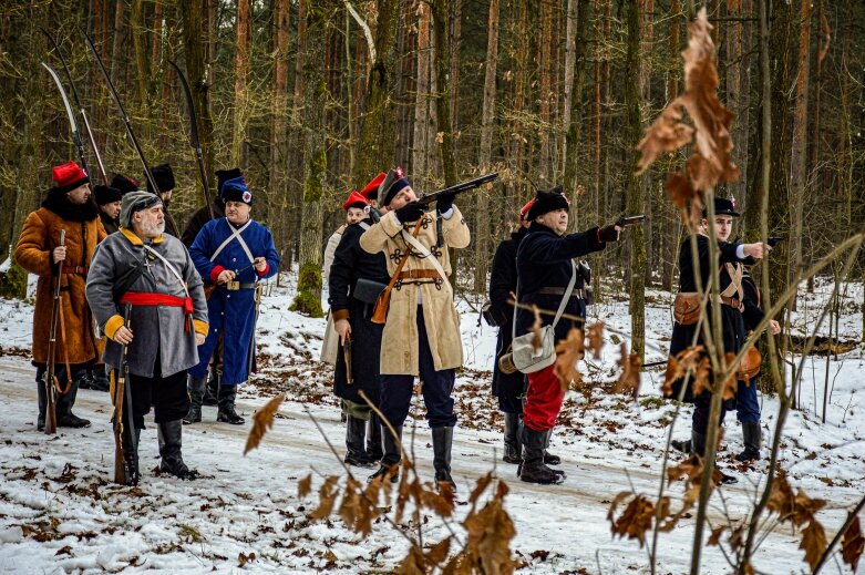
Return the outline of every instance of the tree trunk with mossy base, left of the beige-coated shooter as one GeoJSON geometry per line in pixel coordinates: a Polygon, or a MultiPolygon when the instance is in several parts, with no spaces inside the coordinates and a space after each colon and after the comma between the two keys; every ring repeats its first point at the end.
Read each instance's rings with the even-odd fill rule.
{"type": "Polygon", "coordinates": [[[318,0],[306,7],[307,40],[303,65],[303,208],[300,230],[300,270],[291,309],[322,317],[321,242],[328,158],[325,146],[325,51],[332,2],[318,0]]]}

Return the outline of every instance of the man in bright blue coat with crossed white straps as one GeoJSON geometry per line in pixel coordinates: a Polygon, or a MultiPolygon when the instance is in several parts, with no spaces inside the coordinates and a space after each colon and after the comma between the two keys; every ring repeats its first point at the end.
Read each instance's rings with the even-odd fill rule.
{"type": "Polygon", "coordinates": [[[235,411],[235,396],[237,386],[249,378],[255,352],[255,290],[260,279],[277,273],[279,254],[270,230],[249,217],[253,194],[243,178],[226,182],[222,199],[225,217],[205,224],[189,248],[198,273],[214,281],[216,290],[207,301],[210,331],[198,348],[198,364],[189,370],[192,404],[184,421],[202,421],[207,364],[223,336],[224,368],[216,421],[239,425],[245,421],[235,411]]]}

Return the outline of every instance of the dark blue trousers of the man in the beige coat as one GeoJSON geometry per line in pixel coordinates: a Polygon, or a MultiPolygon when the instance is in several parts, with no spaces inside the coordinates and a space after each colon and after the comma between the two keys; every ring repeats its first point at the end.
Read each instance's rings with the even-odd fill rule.
{"type": "MultiPolygon", "coordinates": [[[[453,412],[453,392],[456,381],[456,371],[453,369],[435,370],[430,341],[426,338],[426,326],[423,321],[423,310],[418,309],[418,356],[420,359],[421,393],[426,405],[426,421],[430,428],[453,427],[456,424],[456,415],[453,412]]],[[[405,422],[411,407],[414,389],[414,376],[382,374],[381,376],[381,404],[379,409],[390,421],[391,425],[399,427],[405,422]]]]}

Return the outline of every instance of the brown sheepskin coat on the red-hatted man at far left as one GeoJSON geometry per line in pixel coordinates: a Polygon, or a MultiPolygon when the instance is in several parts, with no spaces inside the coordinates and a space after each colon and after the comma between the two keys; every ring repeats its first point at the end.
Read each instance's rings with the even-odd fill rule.
{"type": "Polygon", "coordinates": [[[48,362],[48,341],[51,331],[51,309],[58,266],[51,251],[60,243],[60,230],[66,230],[66,259],[63,261],[61,300],[63,337],[58,326],[56,362],[64,361],[64,347],[71,364],[96,361],[97,338],[93,316],[84,296],[86,269],[93,259],[96,244],[105,239],[105,228],[99,217],[99,207],[91,196],[83,205],[73,205],[65,193],[52,188],[42,207],[24,220],[14,259],[27,271],[39,276],[37,305],[33,314],[33,361],[48,362]],[[76,270],[78,268],[78,270],[76,270]],[[63,340],[65,338],[65,346],[63,340]]]}

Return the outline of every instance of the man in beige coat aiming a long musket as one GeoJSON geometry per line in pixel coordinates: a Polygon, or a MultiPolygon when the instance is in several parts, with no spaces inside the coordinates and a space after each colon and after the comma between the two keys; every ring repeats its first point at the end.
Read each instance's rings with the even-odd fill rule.
{"type": "MultiPolygon", "coordinates": [[[[409,254],[391,294],[382,335],[380,409],[401,438],[414,378],[420,376],[426,420],[432,429],[435,483],[449,483],[451,487],[451,444],[456,424],[451,393],[455,368],[463,362],[463,345],[460,316],[447,280],[452,273],[447,248],[466,247],[471,239],[453,199],[440,197],[434,212],[424,212],[402,170],[391,170],[379,187],[379,205],[389,211],[360,238],[365,251],[384,253],[391,277],[400,259],[409,254]],[[439,218],[443,219],[441,243],[436,233],[439,218]]],[[[387,428],[382,435],[384,458],[372,478],[388,473],[400,462],[397,438],[387,428]]],[[[397,475],[391,480],[395,482],[397,475]]]]}

